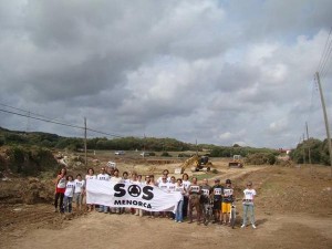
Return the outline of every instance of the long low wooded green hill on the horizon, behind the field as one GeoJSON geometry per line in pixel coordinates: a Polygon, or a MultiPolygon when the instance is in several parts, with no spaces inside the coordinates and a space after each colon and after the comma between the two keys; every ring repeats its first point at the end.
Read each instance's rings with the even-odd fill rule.
{"type": "MultiPolygon", "coordinates": [[[[0,146],[1,145],[21,145],[21,146],[40,146],[45,148],[82,151],[84,139],[82,137],[63,137],[56,134],[42,132],[21,132],[10,131],[0,127],[0,146]]],[[[206,152],[210,156],[231,157],[232,155],[247,156],[252,153],[273,153],[276,149],[252,148],[235,146],[217,146],[211,144],[189,144],[175,138],[155,138],[155,137],[121,137],[106,138],[95,137],[87,139],[87,149],[108,149],[108,151],[149,151],[149,152],[186,152],[199,151],[206,152]]]]}

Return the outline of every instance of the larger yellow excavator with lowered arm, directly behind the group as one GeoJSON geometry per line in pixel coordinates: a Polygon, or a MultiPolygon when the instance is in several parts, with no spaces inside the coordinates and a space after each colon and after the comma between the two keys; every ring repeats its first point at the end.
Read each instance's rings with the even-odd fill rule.
{"type": "Polygon", "coordinates": [[[175,174],[184,174],[185,169],[194,165],[191,172],[209,172],[211,170],[212,163],[209,162],[208,156],[199,156],[195,154],[190,158],[186,159],[185,163],[175,169],[175,174]]]}

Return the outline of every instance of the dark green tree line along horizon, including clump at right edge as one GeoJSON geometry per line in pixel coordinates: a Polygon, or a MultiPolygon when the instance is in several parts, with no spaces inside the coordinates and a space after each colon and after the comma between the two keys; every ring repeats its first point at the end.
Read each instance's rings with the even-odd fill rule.
{"type": "MultiPolygon", "coordinates": [[[[84,148],[84,139],[81,137],[63,137],[56,134],[40,133],[40,132],[17,132],[0,127],[0,146],[1,145],[27,145],[40,146],[43,148],[82,151],[84,148]]],[[[218,146],[212,144],[190,144],[177,141],[175,138],[156,138],[156,137],[118,137],[106,138],[95,137],[87,139],[89,149],[105,149],[105,151],[146,151],[146,152],[206,152],[211,157],[232,157],[241,155],[261,154],[266,155],[268,162],[274,162],[273,156],[281,153],[272,148],[255,148],[242,147],[237,144],[232,146],[218,146]]],[[[309,163],[329,165],[328,139],[320,141],[317,138],[307,139],[298,144],[297,148],[290,153],[290,158],[295,164],[309,163]]],[[[201,153],[200,153],[201,154],[201,153]]]]}

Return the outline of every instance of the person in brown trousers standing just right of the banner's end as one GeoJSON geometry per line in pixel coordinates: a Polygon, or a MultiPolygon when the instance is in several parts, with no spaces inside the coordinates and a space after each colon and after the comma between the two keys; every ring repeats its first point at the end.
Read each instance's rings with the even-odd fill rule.
{"type": "Polygon", "coordinates": [[[189,212],[188,212],[188,218],[189,218],[189,224],[193,224],[193,210],[194,208],[196,209],[197,212],[197,224],[200,224],[200,194],[201,194],[201,188],[197,184],[197,177],[193,177],[193,183],[189,186],[189,212]]]}

